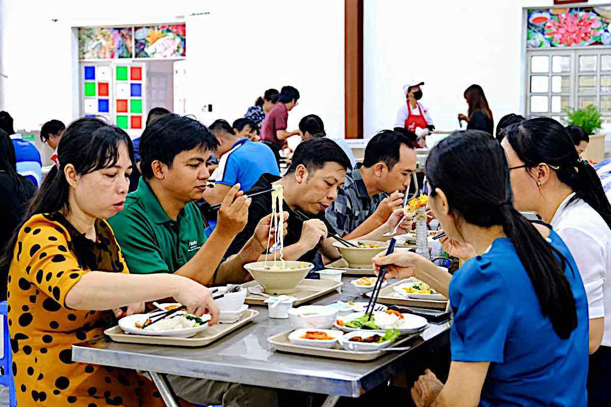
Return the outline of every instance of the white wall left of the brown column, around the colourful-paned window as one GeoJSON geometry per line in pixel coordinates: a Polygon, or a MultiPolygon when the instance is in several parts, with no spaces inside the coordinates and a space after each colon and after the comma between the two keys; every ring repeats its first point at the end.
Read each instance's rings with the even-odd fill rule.
{"type": "Polygon", "coordinates": [[[3,82],[3,108],[15,118],[15,128],[32,130],[50,118],[66,122],[76,118],[78,71],[71,27],[186,20],[189,106],[204,123],[216,118],[233,121],[266,88],[290,84],[301,92],[299,105],[290,114],[290,129],[297,127],[302,116],[316,113],[330,134],[343,134],[342,0],[150,0],[146,7],[142,2],[106,0],[103,7],[98,4],[0,2],[4,7],[0,15],[6,19],[0,59],[9,76],[3,82]],[[189,16],[202,12],[210,12],[210,18],[189,16]],[[200,26],[207,21],[207,26],[200,26]],[[205,37],[197,37],[198,33],[205,37]],[[213,112],[202,113],[203,103],[213,104],[213,112]]]}

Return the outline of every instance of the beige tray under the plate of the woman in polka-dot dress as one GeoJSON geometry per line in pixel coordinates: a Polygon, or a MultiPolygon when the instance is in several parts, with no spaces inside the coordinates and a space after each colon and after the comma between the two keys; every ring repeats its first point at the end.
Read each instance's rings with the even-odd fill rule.
{"type": "Polygon", "coordinates": [[[246,325],[258,314],[259,312],[255,309],[247,309],[237,322],[219,323],[209,326],[207,329],[200,331],[190,338],[128,334],[124,333],[123,330],[119,328],[119,325],[108,328],[108,330],[104,331],[104,334],[111,337],[115,342],[125,342],[128,344],[204,347],[221,339],[232,331],[237,330],[241,326],[246,325]]]}

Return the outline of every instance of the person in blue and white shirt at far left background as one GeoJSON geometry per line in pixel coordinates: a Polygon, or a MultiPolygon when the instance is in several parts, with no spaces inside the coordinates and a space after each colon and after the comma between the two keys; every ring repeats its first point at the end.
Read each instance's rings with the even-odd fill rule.
{"type": "Polygon", "coordinates": [[[0,112],[0,129],[4,130],[13,142],[17,159],[17,172],[40,187],[42,182],[42,161],[38,149],[30,142],[21,139],[21,134],[15,134],[13,118],[8,112],[0,112]]]}

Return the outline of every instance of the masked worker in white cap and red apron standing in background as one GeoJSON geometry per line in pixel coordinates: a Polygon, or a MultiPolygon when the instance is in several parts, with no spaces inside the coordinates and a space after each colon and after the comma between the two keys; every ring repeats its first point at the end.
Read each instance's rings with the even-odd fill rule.
{"type": "Polygon", "coordinates": [[[422,89],[420,88],[422,85],[424,85],[424,82],[412,80],[403,86],[406,101],[397,112],[397,119],[395,120],[395,128],[406,129],[417,135],[418,145],[414,145],[414,147],[425,147],[426,134],[435,128],[428,109],[419,102],[422,99],[422,89]]]}

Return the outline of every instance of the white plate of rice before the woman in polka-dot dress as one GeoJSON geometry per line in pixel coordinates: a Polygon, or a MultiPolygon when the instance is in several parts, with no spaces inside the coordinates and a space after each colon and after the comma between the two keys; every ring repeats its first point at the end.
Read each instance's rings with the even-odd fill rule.
{"type": "Polygon", "coordinates": [[[119,326],[123,331],[130,334],[188,338],[208,328],[208,321],[211,319],[208,314],[196,317],[186,312],[177,312],[146,328],[142,328],[147,320],[155,314],[158,314],[158,312],[129,315],[119,320],[119,326]]]}

